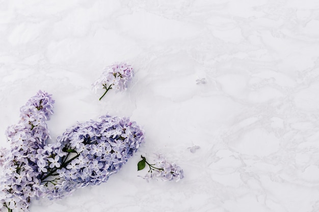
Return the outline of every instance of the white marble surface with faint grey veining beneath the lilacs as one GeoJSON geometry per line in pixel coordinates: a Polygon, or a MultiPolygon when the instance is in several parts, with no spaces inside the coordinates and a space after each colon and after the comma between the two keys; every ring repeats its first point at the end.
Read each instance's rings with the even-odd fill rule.
{"type": "Polygon", "coordinates": [[[146,143],[107,183],[32,212],[319,210],[317,0],[0,1],[1,146],[39,89],[56,100],[52,139],[109,112],[146,143]],[[91,83],[116,61],[134,81],[98,101],[91,83]],[[153,153],[185,178],[137,177],[153,153]]]}

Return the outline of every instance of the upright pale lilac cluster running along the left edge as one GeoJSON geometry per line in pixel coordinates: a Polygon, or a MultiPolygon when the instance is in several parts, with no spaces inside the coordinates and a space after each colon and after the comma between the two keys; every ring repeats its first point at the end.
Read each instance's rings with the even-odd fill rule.
{"type": "Polygon", "coordinates": [[[53,113],[53,103],[51,95],[40,90],[20,108],[18,124],[6,131],[11,149],[0,151],[1,211],[29,211],[30,199],[45,191],[39,184],[41,172],[38,164],[46,163],[47,155],[40,149],[49,138],[45,121],[53,113]]]}

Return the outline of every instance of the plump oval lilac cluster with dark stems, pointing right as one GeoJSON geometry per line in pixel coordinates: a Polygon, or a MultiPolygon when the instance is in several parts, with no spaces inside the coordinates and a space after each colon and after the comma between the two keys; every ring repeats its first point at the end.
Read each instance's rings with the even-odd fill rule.
{"type": "Polygon", "coordinates": [[[42,177],[54,185],[50,198],[107,181],[144,142],[143,130],[129,118],[104,115],[100,119],[77,124],[58,137],[59,147],[42,177]]]}

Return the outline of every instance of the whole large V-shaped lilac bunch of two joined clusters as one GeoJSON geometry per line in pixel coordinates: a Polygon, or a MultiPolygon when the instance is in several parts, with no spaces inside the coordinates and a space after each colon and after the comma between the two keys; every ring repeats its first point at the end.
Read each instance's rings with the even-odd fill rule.
{"type": "Polygon", "coordinates": [[[21,120],[7,130],[11,149],[0,149],[0,211],[29,211],[33,198],[61,198],[76,188],[99,185],[126,163],[144,141],[128,118],[104,115],[66,130],[48,143],[45,123],[54,100],[39,93],[21,108],[21,120]]]}

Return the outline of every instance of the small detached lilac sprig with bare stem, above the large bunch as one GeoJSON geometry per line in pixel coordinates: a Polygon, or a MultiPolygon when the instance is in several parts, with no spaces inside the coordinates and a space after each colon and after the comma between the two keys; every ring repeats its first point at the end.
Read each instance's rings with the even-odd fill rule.
{"type": "Polygon", "coordinates": [[[126,63],[118,63],[108,66],[104,69],[102,75],[93,84],[93,89],[105,89],[101,100],[110,89],[117,89],[118,91],[126,90],[127,84],[132,80],[134,70],[126,63]]]}

